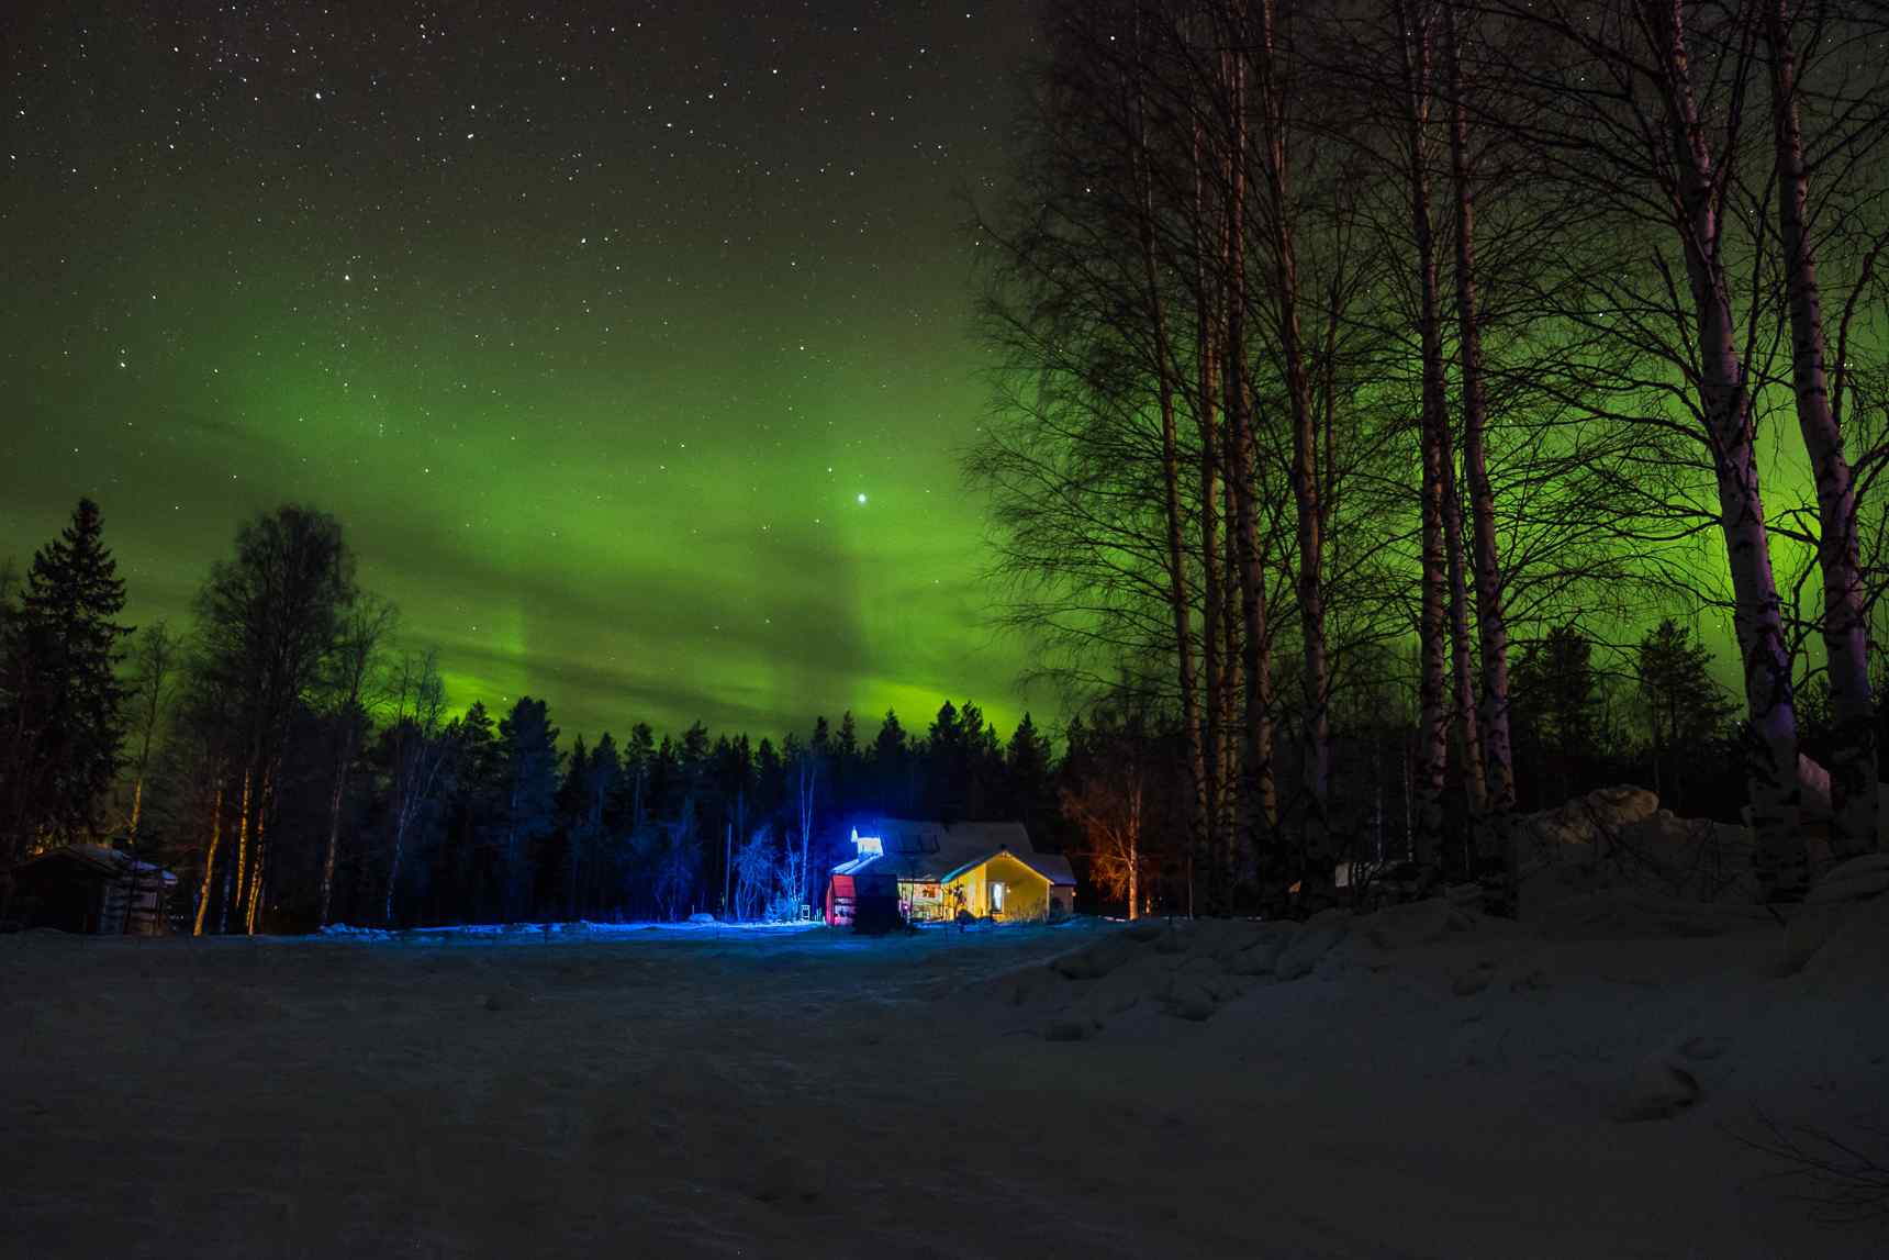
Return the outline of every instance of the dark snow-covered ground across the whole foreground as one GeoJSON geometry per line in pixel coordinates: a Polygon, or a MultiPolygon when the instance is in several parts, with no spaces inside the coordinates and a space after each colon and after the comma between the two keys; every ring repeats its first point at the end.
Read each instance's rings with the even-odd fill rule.
{"type": "Polygon", "coordinates": [[[1889,1254],[1864,911],[0,937],[0,1254],[1889,1254]]]}

